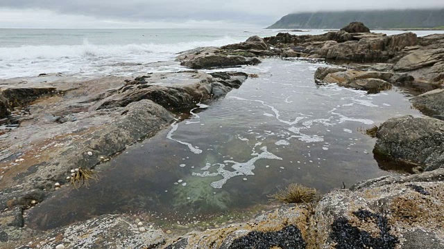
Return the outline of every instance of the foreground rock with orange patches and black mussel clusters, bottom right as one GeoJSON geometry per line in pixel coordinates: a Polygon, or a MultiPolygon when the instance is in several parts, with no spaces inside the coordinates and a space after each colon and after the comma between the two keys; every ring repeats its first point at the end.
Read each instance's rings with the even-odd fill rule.
{"type": "Polygon", "coordinates": [[[384,176],[325,194],[317,204],[284,205],[247,223],[189,234],[166,249],[444,248],[444,169],[384,176]]]}

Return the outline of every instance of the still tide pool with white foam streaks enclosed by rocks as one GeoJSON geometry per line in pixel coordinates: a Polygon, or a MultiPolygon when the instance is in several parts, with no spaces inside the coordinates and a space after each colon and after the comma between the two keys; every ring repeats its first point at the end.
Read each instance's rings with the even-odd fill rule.
{"type": "Polygon", "coordinates": [[[394,174],[379,169],[375,139],[361,130],[394,116],[420,116],[409,94],[317,86],[317,66],[268,59],[245,68],[259,77],[99,165],[101,181],[89,189],[62,188],[31,210],[28,223],[48,229],[145,212],[183,224],[266,204],[290,183],[325,193],[394,174]]]}

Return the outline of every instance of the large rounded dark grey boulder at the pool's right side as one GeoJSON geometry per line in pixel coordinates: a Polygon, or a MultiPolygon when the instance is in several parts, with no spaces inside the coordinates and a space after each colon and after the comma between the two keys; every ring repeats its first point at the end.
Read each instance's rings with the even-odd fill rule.
{"type": "Polygon", "coordinates": [[[376,154],[431,171],[444,165],[444,121],[436,118],[392,118],[377,131],[376,154]]]}

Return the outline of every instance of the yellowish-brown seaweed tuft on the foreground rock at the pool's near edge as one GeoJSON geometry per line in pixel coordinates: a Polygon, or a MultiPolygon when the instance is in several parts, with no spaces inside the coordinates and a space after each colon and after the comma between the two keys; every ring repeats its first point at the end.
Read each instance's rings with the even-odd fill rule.
{"type": "Polygon", "coordinates": [[[279,190],[278,193],[269,197],[282,203],[311,203],[316,200],[316,196],[317,192],[314,188],[293,183],[285,190],[279,190]]]}

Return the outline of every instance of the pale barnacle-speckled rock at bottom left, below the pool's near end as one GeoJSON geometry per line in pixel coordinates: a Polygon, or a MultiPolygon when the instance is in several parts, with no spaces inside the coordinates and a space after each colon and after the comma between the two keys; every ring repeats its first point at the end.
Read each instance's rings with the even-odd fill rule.
{"type": "Polygon", "coordinates": [[[99,216],[35,238],[42,248],[55,248],[61,241],[67,248],[157,248],[164,240],[162,230],[140,232],[132,219],[119,215],[99,216]]]}

